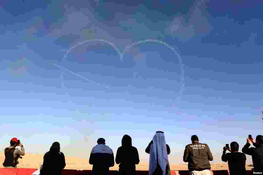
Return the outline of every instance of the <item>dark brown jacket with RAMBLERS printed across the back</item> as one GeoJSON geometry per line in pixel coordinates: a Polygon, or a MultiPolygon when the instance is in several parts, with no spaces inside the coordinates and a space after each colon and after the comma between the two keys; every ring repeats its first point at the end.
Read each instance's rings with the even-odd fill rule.
{"type": "Polygon", "coordinates": [[[183,161],[188,162],[189,171],[202,171],[211,169],[209,161],[213,161],[213,155],[207,144],[195,142],[186,145],[183,161]]]}

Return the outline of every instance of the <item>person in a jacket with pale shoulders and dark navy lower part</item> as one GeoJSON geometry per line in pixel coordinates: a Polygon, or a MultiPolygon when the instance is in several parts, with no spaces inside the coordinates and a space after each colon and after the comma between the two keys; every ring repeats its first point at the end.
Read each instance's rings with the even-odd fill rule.
{"type": "Polygon", "coordinates": [[[93,174],[106,174],[109,173],[109,167],[114,166],[114,155],[112,149],[105,145],[105,139],[99,138],[97,145],[92,148],[89,164],[93,165],[93,174]]]}

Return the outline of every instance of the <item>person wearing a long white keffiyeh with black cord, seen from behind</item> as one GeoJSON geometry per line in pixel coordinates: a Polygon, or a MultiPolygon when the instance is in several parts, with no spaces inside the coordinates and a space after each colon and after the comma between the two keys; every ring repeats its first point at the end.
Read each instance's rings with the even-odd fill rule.
{"type": "Polygon", "coordinates": [[[170,147],[165,142],[164,132],[156,132],[145,152],[150,154],[149,175],[171,175],[168,162],[170,147]]]}

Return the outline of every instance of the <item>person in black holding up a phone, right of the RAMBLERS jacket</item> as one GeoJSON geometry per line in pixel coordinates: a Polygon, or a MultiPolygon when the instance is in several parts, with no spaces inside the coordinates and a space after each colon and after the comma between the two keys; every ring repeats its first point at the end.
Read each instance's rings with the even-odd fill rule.
{"type": "Polygon", "coordinates": [[[223,148],[223,155],[221,157],[222,161],[228,163],[229,174],[246,174],[246,155],[244,153],[238,152],[239,144],[237,142],[231,142],[229,145],[223,148]],[[226,153],[229,150],[231,153],[226,153]]]}

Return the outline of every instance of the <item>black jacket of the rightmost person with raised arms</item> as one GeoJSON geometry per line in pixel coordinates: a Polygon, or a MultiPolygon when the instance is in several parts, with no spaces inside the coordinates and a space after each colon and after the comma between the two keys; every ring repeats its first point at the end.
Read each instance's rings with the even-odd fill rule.
{"type": "Polygon", "coordinates": [[[247,155],[252,155],[252,161],[255,171],[263,172],[263,145],[249,148],[250,144],[246,143],[242,148],[242,152],[247,155]]]}

